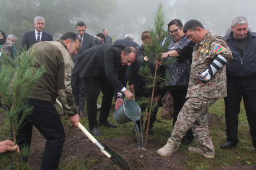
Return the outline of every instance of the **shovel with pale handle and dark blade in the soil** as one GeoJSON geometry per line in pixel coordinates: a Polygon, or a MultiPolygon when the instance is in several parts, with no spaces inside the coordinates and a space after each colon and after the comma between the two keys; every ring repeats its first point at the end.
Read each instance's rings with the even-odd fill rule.
{"type": "MultiPolygon", "coordinates": [[[[62,108],[61,103],[56,99],[56,103],[57,105],[59,105],[59,107],[62,108]]],[[[85,135],[91,140],[92,143],[96,144],[96,146],[100,149],[100,151],[106,155],[106,157],[111,158],[111,160],[116,163],[120,168],[125,169],[125,170],[130,170],[130,166],[128,165],[128,163],[126,162],[126,160],[119,154],[117,154],[117,152],[115,152],[115,150],[113,150],[112,148],[110,148],[109,146],[105,145],[102,146],[100,144],[100,142],[98,142],[93,135],[91,135],[91,133],[89,133],[87,131],[87,129],[85,129],[85,127],[79,122],[79,129],[81,129],[81,131],[83,131],[83,133],[85,133],[85,135]]]]}

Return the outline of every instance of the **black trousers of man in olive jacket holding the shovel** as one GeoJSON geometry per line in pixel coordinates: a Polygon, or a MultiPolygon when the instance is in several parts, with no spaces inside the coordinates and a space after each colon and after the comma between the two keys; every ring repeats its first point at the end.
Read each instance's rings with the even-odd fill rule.
{"type": "Polygon", "coordinates": [[[20,148],[30,146],[34,125],[47,140],[41,169],[57,169],[65,139],[59,114],[51,102],[29,99],[29,103],[34,105],[33,112],[20,127],[16,135],[17,144],[20,148]]]}

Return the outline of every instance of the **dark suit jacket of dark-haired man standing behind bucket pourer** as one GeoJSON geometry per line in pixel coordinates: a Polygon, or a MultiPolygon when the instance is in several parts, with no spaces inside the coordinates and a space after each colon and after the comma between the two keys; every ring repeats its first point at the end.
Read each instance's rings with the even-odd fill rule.
{"type": "MultiPolygon", "coordinates": [[[[79,35],[77,35],[79,36],[79,35]]],[[[82,49],[79,46],[79,49],[77,50],[76,55],[72,56],[72,59],[74,61],[74,69],[72,72],[72,75],[77,73],[77,71],[79,71],[79,57],[81,57],[81,54],[87,50],[88,48],[91,48],[93,46],[95,46],[95,41],[94,41],[94,37],[85,33],[85,35],[83,35],[83,42],[82,42],[82,49]]]]}

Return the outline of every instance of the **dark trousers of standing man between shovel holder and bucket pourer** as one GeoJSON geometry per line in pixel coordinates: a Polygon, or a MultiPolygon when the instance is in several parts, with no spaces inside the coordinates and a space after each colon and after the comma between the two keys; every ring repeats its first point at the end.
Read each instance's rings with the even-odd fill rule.
{"type": "Polygon", "coordinates": [[[86,90],[83,78],[79,78],[79,71],[72,73],[71,86],[74,95],[74,102],[79,106],[79,111],[85,109],[86,90]]]}

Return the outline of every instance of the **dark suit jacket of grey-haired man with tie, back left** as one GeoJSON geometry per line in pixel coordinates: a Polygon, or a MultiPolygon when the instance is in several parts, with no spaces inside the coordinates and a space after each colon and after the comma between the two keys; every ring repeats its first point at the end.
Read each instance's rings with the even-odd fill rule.
{"type": "MultiPolygon", "coordinates": [[[[46,33],[45,31],[42,31],[41,41],[53,41],[53,36],[50,33],[46,33]]],[[[35,43],[36,43],[35,30],[28,31],[23,36],[23,40],[21,41],[21,48],[27,47],[27,49],[29,49],[30,46],[32,46],[35,43]]]]}

